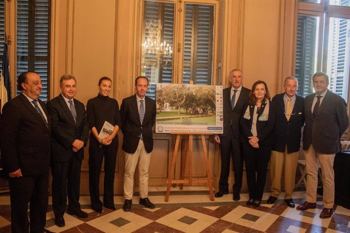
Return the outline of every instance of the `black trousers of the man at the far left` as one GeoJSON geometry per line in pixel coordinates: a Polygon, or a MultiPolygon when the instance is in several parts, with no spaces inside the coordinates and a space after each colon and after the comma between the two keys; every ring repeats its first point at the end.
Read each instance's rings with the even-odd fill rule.
{"type": "Polygon", "coordinates": [[[11,230],[44,232],[48,206],[49,172],[40,175],[10,178],[11,230]]]}

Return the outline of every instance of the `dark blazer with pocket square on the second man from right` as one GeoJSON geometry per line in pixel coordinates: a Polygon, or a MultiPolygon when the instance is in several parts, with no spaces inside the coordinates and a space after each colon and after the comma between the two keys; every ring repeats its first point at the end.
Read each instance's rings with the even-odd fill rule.
{"type": "Polygon", "coordinates": [[[272,98],[276,109],[276,120],[273,130],[275,143],[272,146],[272,150],[285,152],[287,143],[288,153],[293,153],[300,149],[301,128],[305,122],[304,97],[296,95],[291,118],[287,121],[284,96],[285,93],[282,93],[272,98]]]}

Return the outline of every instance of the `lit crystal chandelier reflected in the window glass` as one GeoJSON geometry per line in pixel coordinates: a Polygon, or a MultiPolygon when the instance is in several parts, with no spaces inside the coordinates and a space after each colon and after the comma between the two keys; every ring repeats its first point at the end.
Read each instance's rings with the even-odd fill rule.
{"type": "Polygon", "coordinates": [[[160,20],[147,20],[145,41],[142,43],[142,68],[171,68],[172,50],[165,41],[161,42],[162,23],[160,20]]]}

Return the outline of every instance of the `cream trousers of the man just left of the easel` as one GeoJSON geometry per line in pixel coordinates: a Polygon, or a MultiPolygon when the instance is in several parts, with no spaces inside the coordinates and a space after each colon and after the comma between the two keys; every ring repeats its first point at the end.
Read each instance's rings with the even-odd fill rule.
{"type": "Polygon", "coordinates": [[[125,153],[124,198],[132,199],[134,174],[138,164],[138,180],[140,198],[148,197],[148,168],[151,153],[147,153],[144,141],[140,140],[135,153],[125,153]]]}

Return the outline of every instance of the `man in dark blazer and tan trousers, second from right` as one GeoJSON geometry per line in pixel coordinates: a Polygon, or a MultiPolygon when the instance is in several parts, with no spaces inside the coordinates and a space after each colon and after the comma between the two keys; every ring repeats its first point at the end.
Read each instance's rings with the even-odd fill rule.
{"type": "Polygon", "coordinates": [[[292,192],[299,158],[301,127],[305,122],[304,98],[296,94],[298,80],[289,76],[285,80],[285,93],[273,97],[276,120],[270,158],[271,195],[267,204],[273,204],[281,194],[283,164],[285,164],[285,202],[294,208],[292,192]]]}

